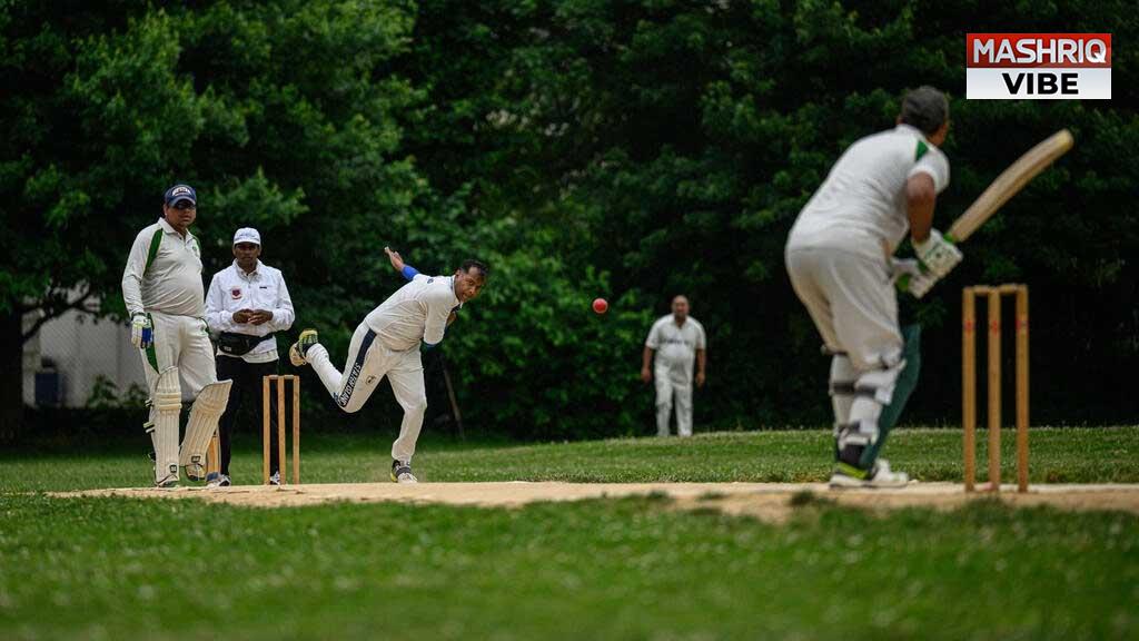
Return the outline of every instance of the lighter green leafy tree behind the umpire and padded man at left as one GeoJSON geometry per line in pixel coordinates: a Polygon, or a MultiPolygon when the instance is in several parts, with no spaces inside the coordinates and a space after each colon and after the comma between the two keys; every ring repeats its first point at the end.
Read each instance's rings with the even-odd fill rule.
{"type": "Polygon", "coordinates": [[[123,314],[125,252],[174,181],[199,192],[195,232],[221,250],[206,252],[208,269],[228,262],[236,225],[259,225],[290,266],[327,258],[303,273],[318,282],[377,243],[360,228],[425,190],[409,162],[387,159],[392,113],[415,97],[384,70],[405,44],[405,6],[69,5],[0,5],[0,80],[15,88],[0,106],[11,230],[0,237],[0,435],[19,421],[22,343],[67,309],[123,314]],[[279,233],[328,219],[339,222],[328,233],[279,233]]]}

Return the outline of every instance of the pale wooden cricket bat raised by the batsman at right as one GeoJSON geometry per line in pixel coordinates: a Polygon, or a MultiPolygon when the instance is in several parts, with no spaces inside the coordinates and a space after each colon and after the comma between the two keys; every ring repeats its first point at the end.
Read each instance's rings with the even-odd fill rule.
{"type": "Polygon", "coordinates": [[[972,236],[1030,180],[1048,169],[1048,165],[1052,164],[1056,159],[1066,154],[1072,148],[1073,143],[1072,132],[1062,129],[1029,149],[1001,172],[977,200],[973,201],[969,209],[953,221],[953,226],[949,228],[945,237],[954,243],[961,243],[972,236]]]}

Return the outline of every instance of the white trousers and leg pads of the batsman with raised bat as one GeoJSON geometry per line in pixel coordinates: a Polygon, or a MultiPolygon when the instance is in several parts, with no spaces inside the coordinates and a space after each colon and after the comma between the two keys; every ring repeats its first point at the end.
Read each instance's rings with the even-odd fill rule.
{"type": "Polygon", "coordinates": [[[902,362],[898,298],[884,258],[836,246],[788,246],[792,286],[831,352],[830,395],[839,448],[870,445],[902,362]]]}

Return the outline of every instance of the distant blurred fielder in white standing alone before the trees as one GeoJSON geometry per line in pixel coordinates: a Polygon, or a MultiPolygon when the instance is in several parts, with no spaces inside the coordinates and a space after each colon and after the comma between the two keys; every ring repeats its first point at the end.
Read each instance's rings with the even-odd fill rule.
{"type": "Polygon", "coordinates": [[[669,436],[673,396],[677,433],[693,436],[693,363],[696,363],[696,387],[704,387],[706,346],[704,325],[688,315],[688,299],[673,298],[672,314],[653,324],[641,356],[641,380],[647,383],[656,378],[656,436],[669,436]]]}

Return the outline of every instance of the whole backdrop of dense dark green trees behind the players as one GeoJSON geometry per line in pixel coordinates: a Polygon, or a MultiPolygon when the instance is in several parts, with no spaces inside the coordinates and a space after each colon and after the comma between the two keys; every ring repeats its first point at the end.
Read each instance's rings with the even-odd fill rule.
{"type": "MultiPolygon", "coordinates": [[[[956,416],[959,287],[1023,281],[1036,417],[1133,417],[1139,54],[1113,51],[1111,102],[964,99],[967,31],[1125,43],[1139,38],[1131,14],[1122,1],[0,2],[0,314],[10,327],[33,308],[121,313],[130,240],[187,180],[207,268],[228,262],[233,228],[260,227],[296,330],[319,327],[337,357],[400,284],[385,244],[433,271],[490,261],[485,298],[445,346],[476,429],[650,431],[638,357],[675,292],[710,330],[698,422],[822,423],[827,363],[782,243],[844,146],[931,83],[952,96],[940,227],[1036,140],[1067,127],[1077,146],[909,306],[927,327],[911,416],[956,416]],[[605,317],[589,311],[596,295],[613,303],[605,317]]],[[[18,371],[18,348],[3,351],[18,371]]]]}

